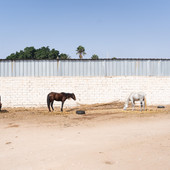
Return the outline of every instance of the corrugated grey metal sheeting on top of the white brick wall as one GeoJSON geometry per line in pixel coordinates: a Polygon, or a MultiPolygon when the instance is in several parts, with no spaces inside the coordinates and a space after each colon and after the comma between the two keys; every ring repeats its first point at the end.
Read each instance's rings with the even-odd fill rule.
{"type": "Polygon", "coordinates": [[[0,60],[0,77],[21,76],[170,76],[170,60],[0,60]]]}

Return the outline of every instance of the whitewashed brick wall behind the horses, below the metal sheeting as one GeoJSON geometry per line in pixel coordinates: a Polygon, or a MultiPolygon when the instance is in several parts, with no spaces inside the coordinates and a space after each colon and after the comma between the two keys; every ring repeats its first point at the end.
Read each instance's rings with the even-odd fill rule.
{"type": "Polygon", "coordinates": [[[146,93],[149,105],[170,104],[170,77],[0,77],[3,107],[46,107],[52,91],[75,93],[67,107],[125,101],[135,91],[146,93]]]}

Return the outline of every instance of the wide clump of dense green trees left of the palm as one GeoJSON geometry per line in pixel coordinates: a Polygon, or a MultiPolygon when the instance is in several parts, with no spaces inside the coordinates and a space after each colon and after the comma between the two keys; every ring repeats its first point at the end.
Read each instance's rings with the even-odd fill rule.
{"type": "Polygon", "coordinates": [[[67,54],[61,53],[58,50],[47,47],[34,48],[26,47],[24,50],[19,52],[12,53],[7,56],[6,59],[16,60],[16,59],[69,59],[70,57],[67,54]]]}

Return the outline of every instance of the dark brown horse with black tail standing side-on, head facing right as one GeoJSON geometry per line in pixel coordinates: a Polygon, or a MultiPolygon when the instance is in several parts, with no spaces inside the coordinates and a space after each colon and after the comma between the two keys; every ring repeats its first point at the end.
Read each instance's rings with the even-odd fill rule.
{"type": "Polygon", "coordinates": [[[54,100],[56,101],[61,101],[61,112],[63,111],[63,105],[64,105],[64,102],[66,101],[66,99],[70,99],[72,98],[73,100],[76,100],[76,96],[74,95],[74,93],[55,93],[55,92],[51,92],[47,95],[47,106],[48,106],[48,109],[49,111],[51,112],[51,109],[50,109],[50,105],[51,105],[51,108],[54,110],[53,108],[53,103],[54,103],[54,100]]]}

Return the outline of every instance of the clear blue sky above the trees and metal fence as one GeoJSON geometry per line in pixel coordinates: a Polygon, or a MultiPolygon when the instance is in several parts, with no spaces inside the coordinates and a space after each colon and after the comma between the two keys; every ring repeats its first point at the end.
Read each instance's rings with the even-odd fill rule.
{"type": "Polygon", "coordinates": [[[71,58],[170,58],[170,0],[0,0],[0,59],[49,46],[71,58]]]}

